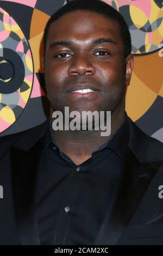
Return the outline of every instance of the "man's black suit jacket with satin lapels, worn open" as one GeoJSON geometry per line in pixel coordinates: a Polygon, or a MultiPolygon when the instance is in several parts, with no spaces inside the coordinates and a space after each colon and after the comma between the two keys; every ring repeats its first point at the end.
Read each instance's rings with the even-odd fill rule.
{"type": "MultiPolygon", "coordinates": [[[[120,181],[93,245],[163,244],[163,144],[129,119],[120,181]]],[[[40,245],[36,220],[37,164],[49,120],[0,138],[0,245],[40,245]]],[[[123,147],[123,145],[119,145],[123,147]]]]}

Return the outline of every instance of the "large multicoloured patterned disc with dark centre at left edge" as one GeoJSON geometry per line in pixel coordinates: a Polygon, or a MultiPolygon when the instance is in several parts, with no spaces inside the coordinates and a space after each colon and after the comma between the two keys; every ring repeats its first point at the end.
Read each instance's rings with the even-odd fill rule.
{"type": "Polygon", "coordinates": [[[26,106],[33,84],[33,62],[20,26],[0,8],[0,132],[12,125],[26,106]]]}

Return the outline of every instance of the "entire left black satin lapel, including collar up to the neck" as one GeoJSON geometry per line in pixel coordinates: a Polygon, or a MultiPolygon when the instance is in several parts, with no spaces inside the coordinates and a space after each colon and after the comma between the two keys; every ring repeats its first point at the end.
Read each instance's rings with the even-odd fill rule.
{"type": "Polygon", "coordinates": [[[50,119],[22,132],[10,149],[12,195],[22,245],[40,245],[36,219],[39,157],[51,140],[50,119]]]}

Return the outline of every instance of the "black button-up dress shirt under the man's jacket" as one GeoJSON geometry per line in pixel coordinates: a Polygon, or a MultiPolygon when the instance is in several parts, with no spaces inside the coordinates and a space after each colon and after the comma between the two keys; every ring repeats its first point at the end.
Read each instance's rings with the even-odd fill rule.
{"type": "Polygon", "coordinates": [[[77,166],[55,144],[49,122],[36,191],[41,245],[93,243],[114,196],[128,141],[126,115],[114,136],[77,166]]]}

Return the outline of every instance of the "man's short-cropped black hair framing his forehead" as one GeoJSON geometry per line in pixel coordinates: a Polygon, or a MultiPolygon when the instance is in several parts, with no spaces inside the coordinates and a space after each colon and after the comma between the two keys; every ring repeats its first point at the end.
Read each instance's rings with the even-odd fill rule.
{"type": "Polygon", "coordinates": [[[44,56],[46,51],[48,29],[51,26],[51,23],[58,20],[63,15],[77,10],[91,11],[93,13],[97,13],[108,17],[109,19],[115,20],[120,26],[120,35],[124,44],[124,57],[126,58],[128,54],[131,53],[130,32],[126,21],[117,10],[101,0],[73,0],[58,9],[48,20],[43,34],[44,56]]]}

